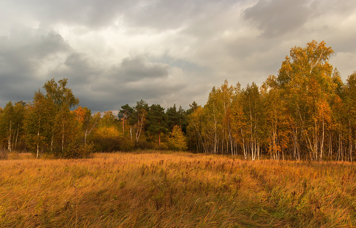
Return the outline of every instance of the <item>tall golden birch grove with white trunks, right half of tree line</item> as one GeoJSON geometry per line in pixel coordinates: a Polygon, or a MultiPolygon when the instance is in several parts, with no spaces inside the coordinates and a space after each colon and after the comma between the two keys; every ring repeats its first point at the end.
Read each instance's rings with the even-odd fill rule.
{"type": "Polygon", "coordinates": [[[213,87],[204,107],[188,116],[197,151],[245,159],[336,159],[356,151],[356,72],[343,83],[325,42],[293,47],[278,75],[258,87],[213,87]]]}

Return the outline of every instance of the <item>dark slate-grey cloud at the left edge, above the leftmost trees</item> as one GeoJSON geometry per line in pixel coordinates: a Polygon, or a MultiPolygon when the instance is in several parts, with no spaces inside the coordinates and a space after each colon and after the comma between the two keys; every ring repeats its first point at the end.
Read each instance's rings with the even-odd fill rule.
{"type": "Polygon", "coordinates": [[[69,50],[61,35],[53,31],[12,30],[1,37],[0,102],[32,100],[33,92],[43,85],[38,75],[41,62],[69,50]]]}

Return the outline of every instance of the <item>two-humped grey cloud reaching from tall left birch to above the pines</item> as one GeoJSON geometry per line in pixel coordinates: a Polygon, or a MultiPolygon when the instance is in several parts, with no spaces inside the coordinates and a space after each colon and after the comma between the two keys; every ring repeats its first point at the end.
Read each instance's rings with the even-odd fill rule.
{"type": "MultiPolygon", "coordinates": [[[[170,76],[168,64],[149,62],[144,56],[126,57],[120,64],[99,66],[90,57],[72,53],[49,75],[69,78],[68,86],[80,105],[92,111],[119,110],[138,100],[164,101],[187,85],[170,76]]],[[[168,103],[167,103],[168,104],[168,103]]]]}

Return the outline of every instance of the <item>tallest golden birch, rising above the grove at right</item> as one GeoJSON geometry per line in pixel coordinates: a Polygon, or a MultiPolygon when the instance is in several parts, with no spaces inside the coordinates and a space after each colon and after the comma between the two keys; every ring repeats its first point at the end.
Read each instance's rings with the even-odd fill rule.
{"type": "Polygon", "coordinates": [[[309,42],[305,48],[294,47],[282,62],[278,82],[288,101],[293,125],[301,126],[302,137],[313,160],[324,154],[325,121],[329,120],[329,101],[334,85],[333,67],[328,60],[333,54],[324,41],[309,42]]]}

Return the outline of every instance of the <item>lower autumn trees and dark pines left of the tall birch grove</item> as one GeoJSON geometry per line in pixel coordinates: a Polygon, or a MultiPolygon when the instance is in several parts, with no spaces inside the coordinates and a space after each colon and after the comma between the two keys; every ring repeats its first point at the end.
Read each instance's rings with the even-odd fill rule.
{"type": "MultiPolygon", "coordinates": [[[[164,111],[159,104],[121,106],[112,111],[91,113],[79,105],[68,79],[54,78],[36,91],[33,101],[19,101],[0,108],[0,146],[9,152],[29,150],[35,156],[87,157],[91,152],[135,149],[187,150],[186,116],[181,106],[164,111]],[[75,107],[74,110],[71,110],[75,107]]],[[[196,105],[196,103],[195,103],[196,105]]]]}

